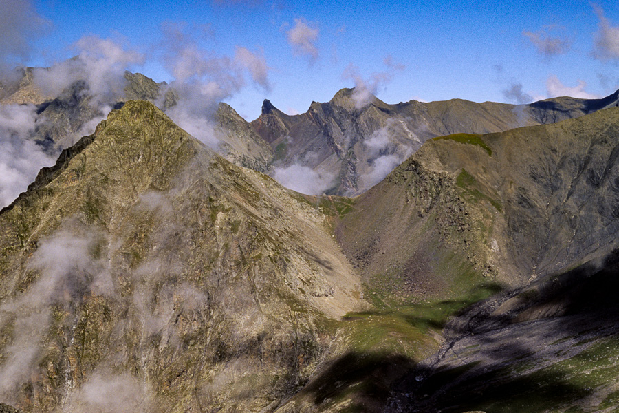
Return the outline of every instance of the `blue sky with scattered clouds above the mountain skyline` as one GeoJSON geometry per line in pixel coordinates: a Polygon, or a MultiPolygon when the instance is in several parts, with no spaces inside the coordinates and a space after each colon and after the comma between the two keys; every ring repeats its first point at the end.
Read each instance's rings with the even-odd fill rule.
{"type": "Polygon", "coordinates": [[[13,3],[0,0],[13,9],[0,17],[6,65],[50,66],[109,40],[139,56],[121,59],[130,70],[217,85],[209,96],[248,120],[264,98],[300,113],[354,85],[387,103],[519,103],[619,87],[619,4],[609,1],[13,3]]]}

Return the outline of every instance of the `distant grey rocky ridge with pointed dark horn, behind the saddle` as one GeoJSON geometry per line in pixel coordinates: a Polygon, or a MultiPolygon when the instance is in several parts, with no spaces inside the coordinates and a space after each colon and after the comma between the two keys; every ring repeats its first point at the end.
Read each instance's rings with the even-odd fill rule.
{"type": "Polygon", "coordinates": [[[604,99],[554,98],[530,105],[442,102],[388,105],[377,98],[355,105],[354,89],[342,89],[328,103],[312,103],[305,114],[288,116],[265,101],[252,121],[275,151],[274,165],[300,164],[331,176],[327,193],[358,195],[435,136],[487,134],[514,127],[576,118],[617,104],[604,99]]]}

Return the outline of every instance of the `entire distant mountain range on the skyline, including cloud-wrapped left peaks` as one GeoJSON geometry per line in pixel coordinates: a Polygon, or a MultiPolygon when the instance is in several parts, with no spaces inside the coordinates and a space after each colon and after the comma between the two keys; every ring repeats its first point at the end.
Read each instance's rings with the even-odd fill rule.
{"type": "MultiPolygon", "coordinates": [[[[124,94],[113,96],[109,107],[131,99],[149,100],[164,110],[177,104],[177,94],[165,83],[130,72],[124,77],[124,94]]],[[[0,93],[2,104],[37,105],[36,139],[56,151],[71,145],[84,125],[105,116],[90,101],[87,85],[80,82],[59,96],[43,96],[33,83],[31,68],[23,71],[21,81],[0,93]]],[[[354,89],[342,89],[327,103],[313,102],[301,115],[284,114],[265,100],[261,115],[252,122],[221,103],[214,116],[214,134],[221,155],[236,165],[270,173],[276,179],[297,165],[315,171],[320,184],[294,189],[354,196],[380,182],[429,138],[556,123],[618,103],[619,91],[602,99],[561,97],[528,105],[461,99],[389,105],[370,96],[366,105],[358,107],[354,89]]]]}

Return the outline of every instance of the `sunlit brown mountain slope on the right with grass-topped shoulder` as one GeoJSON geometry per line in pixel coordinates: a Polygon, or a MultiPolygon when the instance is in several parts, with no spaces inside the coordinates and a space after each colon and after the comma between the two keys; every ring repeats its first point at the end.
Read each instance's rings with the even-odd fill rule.
{"type": "Polygon", "coordinates": [[[510,286],[603,257],[619,229],[618,120],[613,108],[430,140],[354,199],[338,236],[367,274],[412,276],[431,246],[510,286]]]}

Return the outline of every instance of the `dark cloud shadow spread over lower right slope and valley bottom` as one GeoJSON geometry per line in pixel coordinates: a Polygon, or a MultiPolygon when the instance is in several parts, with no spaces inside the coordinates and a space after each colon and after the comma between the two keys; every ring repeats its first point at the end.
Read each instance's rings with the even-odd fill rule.
{"type": "MultiPolygon", "coordinates": [[[[607,371],[605,365],[605,357],[619,354],[619,345],[612,353],[598,349],[619,339],[619,251],[600,263],[534,284],[535,294],[520,290],[510,296],[529,297],[512,312],[495,315],[497,306],[488,304],[496,297],[486,301],[486,313],[484,304],[462,310],[445,326],[453,339],[423,363],[397,354],[349,352],[303,392],[320,410],[349,399],[351,412],[544,412],[572,407],[619,377],[619,368],[607,371]],[[522,317],[527,312],[530,315],[522,317]],[[598,368],[607,379],[591,372],[598,368]]],[[[464,304],[438,305],[453,309],[464,304]]],[[[434,313],[402,318],[413,326],[444,326],[444,319],[434,313]]],[[[596,397],[591,399],[594,404],[607,403],[596,397]]]]}

